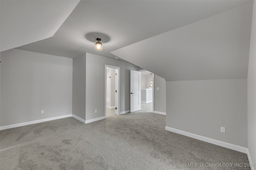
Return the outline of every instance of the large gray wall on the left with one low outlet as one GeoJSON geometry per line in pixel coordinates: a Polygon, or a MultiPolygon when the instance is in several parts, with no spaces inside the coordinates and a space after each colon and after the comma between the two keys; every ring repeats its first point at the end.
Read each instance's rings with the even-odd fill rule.
{"type": "Polygon", "coordinates": [[[3,51],[1,79],[1,126],[72,114],[72,59],[3,51]]]}

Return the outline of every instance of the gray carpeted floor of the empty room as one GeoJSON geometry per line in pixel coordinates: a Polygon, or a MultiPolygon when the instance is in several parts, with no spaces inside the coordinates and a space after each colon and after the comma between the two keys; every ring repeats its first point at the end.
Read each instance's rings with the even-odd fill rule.
{"type": "Polygon", "coordinates": [[[88,124],[68,117],[0,132],[1,170],[246,169],[235,163],[248,163],[247,155],[166,131],[165,115],[151,112],[88,124]]]}

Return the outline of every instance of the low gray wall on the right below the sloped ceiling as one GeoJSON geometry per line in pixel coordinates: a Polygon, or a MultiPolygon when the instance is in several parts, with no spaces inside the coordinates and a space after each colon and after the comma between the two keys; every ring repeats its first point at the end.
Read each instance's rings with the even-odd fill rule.
{"type": "Polygon", "coordinates": [[[167,127],[247,147],[246,79],[166,82],[166,111],[167,127]]]}

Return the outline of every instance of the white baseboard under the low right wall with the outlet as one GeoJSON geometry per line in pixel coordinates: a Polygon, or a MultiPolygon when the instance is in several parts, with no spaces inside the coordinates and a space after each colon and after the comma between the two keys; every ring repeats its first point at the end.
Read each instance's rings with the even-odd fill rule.
{"type": "Polygon", "coordinates": [[[211,139],[211,138],[208,138],[208,137],[203,137],[203,136],[200,136],[200,135],[196,135],[196,134],[193,134],[193,133],[181,131],[181,130],[174,129],[174,128],[171,128],[171,127],[167,127],[166,126],[165,130],[171,131],[171,132],[174,132],[174,133],[178,133],[180,135],[185,135],[185,136],[188,136],[188,137],[192,137],[192,138],[198,139],[200,141],[212,143],[214,145],[218,145],[218,146],[225,147],[225,148],[228,148],[228,149],[236,150],[238,152],[243,152],[243,153],[246,153],[246,154],[248,152],[248,149],[245,148],[245,147],[240,147],[238,145],[234,145],[234,144],[231,144],[231,143],[226,143],[226,142],[218,141],[216,139],[211,139]]]}

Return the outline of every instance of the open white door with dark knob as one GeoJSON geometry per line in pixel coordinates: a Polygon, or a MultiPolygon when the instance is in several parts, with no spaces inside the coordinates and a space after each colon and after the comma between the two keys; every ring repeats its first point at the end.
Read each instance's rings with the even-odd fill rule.
{"type": "Polygon", "coordinates": [[[141,72],[130,71],[130,112],[141,109],[141,72]]]}

